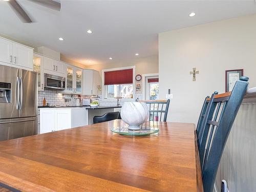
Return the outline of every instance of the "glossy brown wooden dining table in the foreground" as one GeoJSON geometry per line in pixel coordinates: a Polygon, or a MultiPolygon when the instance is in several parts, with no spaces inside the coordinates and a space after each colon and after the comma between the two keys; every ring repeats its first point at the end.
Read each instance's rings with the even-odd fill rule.
{"type": "Polygon", "coordinates": [[[0,183],[20,191],[202,191],[195,124],[147,122],[156,134],[111,132],[113,120],[0,142],[0,183]]]}

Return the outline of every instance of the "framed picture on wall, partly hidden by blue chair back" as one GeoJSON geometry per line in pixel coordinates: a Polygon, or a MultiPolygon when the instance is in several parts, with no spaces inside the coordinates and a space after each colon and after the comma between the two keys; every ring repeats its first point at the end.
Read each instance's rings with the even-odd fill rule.
{"type": "Polygon", "coordinates": [[[226,70],[226,92],[232,91],[234,84],[244,75],[243,69],[226,70]]]}

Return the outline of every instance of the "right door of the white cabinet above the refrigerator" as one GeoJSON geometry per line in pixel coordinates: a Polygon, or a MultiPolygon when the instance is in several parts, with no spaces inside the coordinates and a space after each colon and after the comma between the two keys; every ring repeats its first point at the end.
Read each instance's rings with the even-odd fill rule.
{"type": "Polygon", "coordinates": [[[13,42],[12,52],[14,65],[33,69],[33,49],[13,42]]]}

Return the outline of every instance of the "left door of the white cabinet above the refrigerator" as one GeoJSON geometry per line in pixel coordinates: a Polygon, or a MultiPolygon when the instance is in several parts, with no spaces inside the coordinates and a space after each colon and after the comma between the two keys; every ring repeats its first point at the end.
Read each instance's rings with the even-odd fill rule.
{"type": "Polygon", "coordinates": [[[12,41],[0,38],[0,61],[12,63],[12,41]]]}

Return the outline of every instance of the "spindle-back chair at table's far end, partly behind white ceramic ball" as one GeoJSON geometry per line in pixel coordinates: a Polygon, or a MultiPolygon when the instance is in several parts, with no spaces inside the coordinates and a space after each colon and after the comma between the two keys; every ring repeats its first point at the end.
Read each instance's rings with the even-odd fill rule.
{"type": "Polygon", "coordinates": [[[148,106],[150,121],[166,121],[170,100],[139,100],[148,106]],[[160,117],[160,118],[159,118],[160,117]]]}

